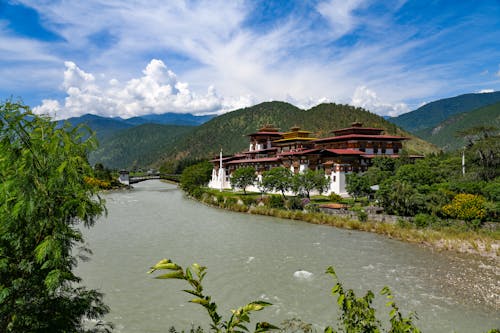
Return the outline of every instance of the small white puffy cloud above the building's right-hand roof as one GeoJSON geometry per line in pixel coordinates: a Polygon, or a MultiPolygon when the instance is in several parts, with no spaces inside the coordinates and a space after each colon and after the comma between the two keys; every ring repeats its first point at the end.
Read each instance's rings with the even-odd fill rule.
{"type": "Polygon", "coordinates": [[[359,86],[354,91],[351,104],[375,112],[379,115],[397,116],[410,111],[405,103],[383,102],[375,93],[365,86],[359,86]]]}

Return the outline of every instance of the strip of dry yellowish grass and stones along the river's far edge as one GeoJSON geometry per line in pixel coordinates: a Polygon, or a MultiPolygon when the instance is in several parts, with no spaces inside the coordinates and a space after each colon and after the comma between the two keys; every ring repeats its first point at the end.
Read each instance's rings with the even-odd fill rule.
{"type": "MultiPolygon", "coordinates": [[[[198,197],[192,197],[212,207],[240,213],[258,214],[278,218],[301,220],[313,224],[329,225],[348,230],[368,231],[409,243],[417,243],[438,251],[455,251],[487,257],[500,263],[500,238],[498,229],[467,229],[451,227],[416,228],[408,219],[398,222],[380,222],[370,220],[367,215],[363,221],[350,215],[331,215],[325,212],[269,208],[262,203],[255,204],[245,200],[244,196],[227,196],[203,191],[198,197]],[[246,202],[245,202],[246,201],[246,202]]],[[[394,220],[394,219],[393,219],[394,220]]],[[[500,274],[500,273],[499,273],[500,274]]]]}

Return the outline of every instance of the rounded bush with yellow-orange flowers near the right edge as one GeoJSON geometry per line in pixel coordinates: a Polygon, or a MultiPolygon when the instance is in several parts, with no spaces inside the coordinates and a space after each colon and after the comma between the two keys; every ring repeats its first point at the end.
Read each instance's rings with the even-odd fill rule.
{"type": "Polygon", "coordinates": [[[461,193],[457,194],[451,204],[445,205],[442,211],[452,218],[472,221],[486,217],[486,200],[481,195],[461,193]]]}

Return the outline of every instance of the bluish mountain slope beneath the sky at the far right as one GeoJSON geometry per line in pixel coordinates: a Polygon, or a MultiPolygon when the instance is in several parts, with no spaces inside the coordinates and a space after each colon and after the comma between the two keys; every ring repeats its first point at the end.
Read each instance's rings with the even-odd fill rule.
{"type": "Polygon", "coordinates": [[[390,121],[407,131],[415,132],[425,128],[433,128],[455,114],[472,111],[497,102],[500,102],[500,91],[465,94],[425,104],[415,111],[391,118],[390,121]]]}

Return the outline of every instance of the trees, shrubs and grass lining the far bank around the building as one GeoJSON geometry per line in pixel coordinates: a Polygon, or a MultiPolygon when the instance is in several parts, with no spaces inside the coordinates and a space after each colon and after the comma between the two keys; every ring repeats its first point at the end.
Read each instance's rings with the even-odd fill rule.
{"type": "Polygon", "coordinates": [[[325,177],[312,171],[293,176],[284,168],[263,174],[259,185],[261,193],[246,193],[246,187],[256,179],[252,168],[240,169],[231,179],[233,187],[243,193],[219,192],[204,187],[211,175],[208,162],[185,169],[180,186],[189,195],[225,209],[371,231],[439,248],[498,257],[498,131],[475,128],[462,135],[469,141],[465,174],[462,174],[459,152],[431,155],[415,162],[404,154],[399,159],[375,158],[373,166],[364,174],[348,175],[347,190],[352,199],[335,194],[311,198],[311,190],[324,191],[325,177]],[[378,191],[372,190],[374,185],[379,186],[378,191]],[[266,191],[281,193],[281,197],[264,195],[266,191]],[[286,191],[295,195],[286,197],[286,191]],[[320,204],[332,202],[350,207],[358,218],[353,220],[319,211],[320,204]],[[367,211],[376,206],[385,213],[399,216],[398,223],[368,221],[367,211]]]}

